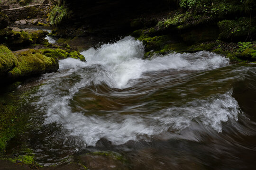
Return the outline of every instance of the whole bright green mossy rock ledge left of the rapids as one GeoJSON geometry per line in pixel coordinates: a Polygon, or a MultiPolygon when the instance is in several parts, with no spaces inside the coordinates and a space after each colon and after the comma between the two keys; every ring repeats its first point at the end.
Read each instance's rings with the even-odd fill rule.
{"type": "Polygon", "coordinates": [[[85,61],[78,51],[62,49],[25,49],[10,51],[0,46],[0,79],[1,85],[23,80],[31,76],[54,72],[59,68],[58,59],[74,58],[85,61]]]}

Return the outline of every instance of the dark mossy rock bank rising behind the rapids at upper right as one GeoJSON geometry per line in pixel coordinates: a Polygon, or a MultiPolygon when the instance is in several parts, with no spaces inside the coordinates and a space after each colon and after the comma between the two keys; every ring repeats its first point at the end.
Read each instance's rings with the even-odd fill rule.
{"type": "Polygon", "coordinates": [[[131,34],[144,43],[145,58],[155,53],[205,50],[237,62],[255,61],[255,1],[179,0],[179,5],[154,26],[141,23],[141,29],[131,34]]]}

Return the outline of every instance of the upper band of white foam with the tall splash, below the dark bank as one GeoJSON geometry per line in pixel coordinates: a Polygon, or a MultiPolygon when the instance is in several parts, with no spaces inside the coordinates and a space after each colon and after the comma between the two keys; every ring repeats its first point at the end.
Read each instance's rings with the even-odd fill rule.
{"type": "MultiPolygon", "coordinates": [[[[74,59],[64,59],[59,63],[60,69],[101,65],[106,74],[110,75],[105,76],[107,77],[105,83],[115,88],[130,86],[130,80],[139,79],[146,72],[168,69],[208,70],[229,65],[229,59],[206,51],[194,54],[171,53],[152,60],[144,60],[142,42],[134,40],[131,36],[113,44],[101,45],[98,49],[90,48],[81,54],[84,55],[87,64],[74,59]]],[[[102,79],[102,82],[104,81],[102,79]]]]}

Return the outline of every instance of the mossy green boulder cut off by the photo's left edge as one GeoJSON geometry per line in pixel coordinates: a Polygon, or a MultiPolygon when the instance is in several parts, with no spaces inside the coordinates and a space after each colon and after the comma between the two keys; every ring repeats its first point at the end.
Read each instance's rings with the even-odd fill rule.
{"type": "Polygon", "coordinates": [[[18,60],[5,45],[0,45],[0,76],[15,68],[18,60]]]}

